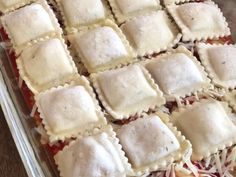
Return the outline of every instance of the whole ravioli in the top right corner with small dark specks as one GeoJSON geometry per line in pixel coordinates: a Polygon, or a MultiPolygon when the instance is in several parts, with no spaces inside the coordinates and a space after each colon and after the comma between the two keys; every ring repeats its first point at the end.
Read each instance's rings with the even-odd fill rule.
{"type": "Polygon", "coordinates": [[[225,17],[213,2],[170,5],[168,10],[182,30],[183,41],[200,41],[230,35],[225,17]]]}

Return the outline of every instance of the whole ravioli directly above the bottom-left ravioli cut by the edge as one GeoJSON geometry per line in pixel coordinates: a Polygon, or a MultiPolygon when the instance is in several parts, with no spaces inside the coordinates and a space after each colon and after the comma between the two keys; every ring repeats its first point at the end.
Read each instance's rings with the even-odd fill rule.
{"type": "Polygon", "coordinates": [[[51,142],[76,137],[106,124],[95,94],[84,77],[41,92],[35,98],[51,142]]]}

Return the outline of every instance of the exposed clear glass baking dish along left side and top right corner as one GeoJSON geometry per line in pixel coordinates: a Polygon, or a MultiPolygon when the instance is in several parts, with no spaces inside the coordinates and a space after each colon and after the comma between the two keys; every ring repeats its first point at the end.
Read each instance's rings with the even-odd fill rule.
{"type": "MultiPolygon", "coordinates": [[[[232,37],[236,39],[236,1],[215,0],[229,22],[232,37]]],[[[8,56],[0,47],[0,104],[14,138],[28,176],[58,177],[53,158],[41,145],[35,122],[21,95],[8,56]]]]}

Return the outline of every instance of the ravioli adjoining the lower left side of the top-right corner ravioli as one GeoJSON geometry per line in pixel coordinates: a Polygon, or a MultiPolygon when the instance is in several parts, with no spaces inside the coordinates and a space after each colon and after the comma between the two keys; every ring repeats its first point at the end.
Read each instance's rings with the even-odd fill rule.
{"type": "Polygon", "coordinates": [[[166,50],[181,38],[176,25],[162,10],[130,19],[121,29],[139,56],[166,50]]]}

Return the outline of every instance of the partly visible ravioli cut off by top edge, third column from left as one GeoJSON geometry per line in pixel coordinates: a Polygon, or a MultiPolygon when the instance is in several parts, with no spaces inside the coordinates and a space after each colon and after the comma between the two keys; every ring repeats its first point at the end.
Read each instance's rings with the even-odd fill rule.
{"type": "Polygon", "coordinates": [[[161,9],[159,0],[108,0],[118,21],[123,23],[127,19],[151,11],[161,9]]]}

